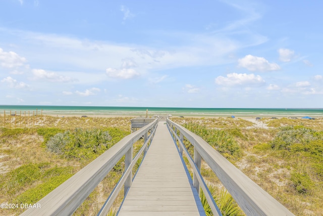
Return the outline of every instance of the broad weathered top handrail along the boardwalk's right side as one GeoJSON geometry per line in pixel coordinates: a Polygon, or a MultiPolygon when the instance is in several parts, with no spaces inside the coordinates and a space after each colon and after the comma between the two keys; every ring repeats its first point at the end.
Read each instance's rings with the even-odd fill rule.
{"type": "Polygon", "coordinates": [[[173,133],[180,131],[180,137],[186,137],[194,146],[194,154],[198,152],[247,215],[294,215],[201,137],[170,119],[167,119],[167,123],[171,128],[176,128],[173,133]]]}

